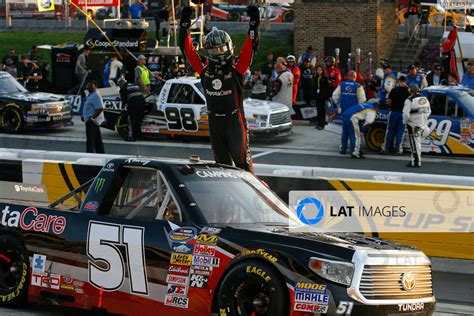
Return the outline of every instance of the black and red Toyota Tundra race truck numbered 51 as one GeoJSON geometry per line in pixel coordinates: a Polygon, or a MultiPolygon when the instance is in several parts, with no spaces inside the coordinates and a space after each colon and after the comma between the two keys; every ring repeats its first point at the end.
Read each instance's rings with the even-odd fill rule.
{"type": "Polygon", "coordinates": [[[290,231],[291,210],[246,171],[196,156],[134,157],[108,161],[90,180],[69,179],[81,184],[56,200],[47,190],[58,182],[0,182],[1,193],[17,192],[0,200],[0,306],[176,316],[435,308],[421,251],[361,234],[290,231]]]}

